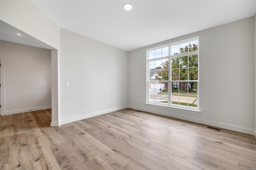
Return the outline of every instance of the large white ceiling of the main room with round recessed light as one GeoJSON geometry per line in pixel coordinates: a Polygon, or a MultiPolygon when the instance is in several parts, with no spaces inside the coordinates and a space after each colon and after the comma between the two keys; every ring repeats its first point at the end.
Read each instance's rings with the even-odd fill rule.
{"type": "Polygon", "coordinates": [[[33,0],[58,26],[130,51],[256,13],[256,0],[33,0]],[[126,11],[125,3],[133,8],[126,11]]]}

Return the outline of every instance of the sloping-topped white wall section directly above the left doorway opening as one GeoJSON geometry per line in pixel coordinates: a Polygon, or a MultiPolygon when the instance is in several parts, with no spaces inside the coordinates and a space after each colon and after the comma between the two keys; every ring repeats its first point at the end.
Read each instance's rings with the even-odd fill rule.
{"type": "Polygon", "coordinates": [[[58,49],[60,28],[32,2],[1,0],[0,19],[58,49]]]}

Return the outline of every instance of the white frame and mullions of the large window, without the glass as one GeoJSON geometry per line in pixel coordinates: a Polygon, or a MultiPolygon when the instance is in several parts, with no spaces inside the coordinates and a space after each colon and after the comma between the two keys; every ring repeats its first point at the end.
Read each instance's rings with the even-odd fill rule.
{"type": "MultiPolygon", "coordinates": [[[[166,45],[162,45],[162,46],[159,46],[159,47],[154,47],[154,48],[150,48],[150,49],[147,49],[147,102],[146,103],[150,103],[150,104],[154,104],[154,105],[164,105],[164,106],[169,106],[169,107],[176,107],[176,108],[182,108],[182,109],[192,109],[192,110],[198,110],[199,111],[199,37],[195,37],[195,38],[191,38],[191,39],[187,39],[187,40],[184,40],[184,41],[180,41],[180,42],[175,42],[175,43],[170,43],[170,44],[166,44],[166,45]],[[179,54],[175,54],[175,55],[171,55],[171,46],[172,45],[178,45],[178,44],[182,44],[182,43],[187,43],[187,42],[191,42],[193,40],[198,40],[198,50],[197,51],[191,51],[191,52],[186,52],[186,53],[179,53],[179,54]],[[154,59],[149,59],[149,51],[152,51],[154,49],[159,49],[159,48],[163,48],[163,47],[169,47],[169,50],[168,50],[168,53],[169,55],[166,56],[166,57],[157,57],[157,58],[154,58],[154,59]],[[176,58],[176,57],[182,57],[182,56],[189,56],[189,55],[195,55],[197,54],[198,55],[198,80],[178,80],[178,81],[175,81],[175,80],[172,80],[172,58],[176,58]],[[168,81],[150,81],[149,79],[149,75],[150,75],[150,66],[149,66],[149,63],[150,61],[157,61],[157,60],[160,60],[160,59],[168,59],[169,61],[169,76],[168,76],[168,81]],[[162,102],[152,102],[150,101],[150,83],[160,83],[160,82],[167,82],[168,83],[168,103],[162,103],[162,102]],[[172,104],[172,82],[185,82],[185,83],[189,83],[189,82],[196,82],[197,83],[197,107],[191,107],[191,106],[183,106],[183,105],[176,105],[176,104],[172,104]]],[[[180,86],[180,84],[179,84],[180,86]]]]}

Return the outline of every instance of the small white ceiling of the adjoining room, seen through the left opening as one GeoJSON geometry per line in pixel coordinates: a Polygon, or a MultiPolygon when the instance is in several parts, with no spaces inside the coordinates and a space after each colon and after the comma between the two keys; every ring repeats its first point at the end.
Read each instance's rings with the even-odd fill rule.
{"type": "Polygon", "coordinates": [[[22,32],[21,30],[7,24],[0,20],[0,40],[21,43],[24,45],[30,45],[34,47],[46,48],[46,49],[54,49],[53,47],[43,43],[36,38],[22,32]],[[20,36],[17,34],[21,34],[20,36]]]}

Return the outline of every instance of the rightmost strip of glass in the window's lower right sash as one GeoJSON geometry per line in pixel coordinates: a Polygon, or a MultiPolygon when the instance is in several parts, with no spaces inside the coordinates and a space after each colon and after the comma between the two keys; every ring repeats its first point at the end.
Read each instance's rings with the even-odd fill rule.
{"type": "Polygon", "coordinates": [[[188,82],[188,106],[197,107],[198,105],[198,96],[197,96],[197,83],[188,82]]]}

